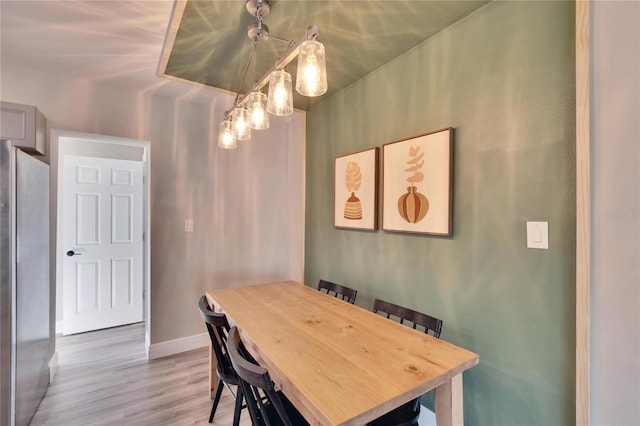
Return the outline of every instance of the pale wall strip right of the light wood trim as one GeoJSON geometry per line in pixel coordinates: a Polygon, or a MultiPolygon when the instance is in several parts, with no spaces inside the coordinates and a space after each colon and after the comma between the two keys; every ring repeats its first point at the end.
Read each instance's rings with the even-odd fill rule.
{"type": "Polygon", "coordinates": [[[640,2],[591,4],[591,420],[638,425],[640,2]]]}

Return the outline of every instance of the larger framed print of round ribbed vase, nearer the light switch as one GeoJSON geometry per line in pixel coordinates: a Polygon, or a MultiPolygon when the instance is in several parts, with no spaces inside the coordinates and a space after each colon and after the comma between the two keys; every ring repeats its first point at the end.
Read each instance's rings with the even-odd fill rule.
{"type": "Polygon", "coordinates": [[[382,147],[382,229],[451,236],[453,128],[382,147]]]}

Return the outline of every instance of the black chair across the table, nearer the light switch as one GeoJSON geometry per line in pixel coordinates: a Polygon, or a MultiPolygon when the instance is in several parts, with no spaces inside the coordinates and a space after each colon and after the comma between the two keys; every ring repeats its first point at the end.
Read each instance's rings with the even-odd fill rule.
{"type": "MultiPolygon", "coordinates": [[[[431,315],[423,314],[422,312],[414,311],[380,299],[373,301],[373,312],[381,313],[389,319],[397,318],[400,324],[411,323],[414,329],[418,330],[421,328],[426,334],[430,334],[429,332],[431,332],[433,337],[440,338],[442,320],[432,317],[431,315]]],[[[418,397],[378,417],[369,423],[369,426],[418,426],[419,418],[420,398],[418,397]]]]}

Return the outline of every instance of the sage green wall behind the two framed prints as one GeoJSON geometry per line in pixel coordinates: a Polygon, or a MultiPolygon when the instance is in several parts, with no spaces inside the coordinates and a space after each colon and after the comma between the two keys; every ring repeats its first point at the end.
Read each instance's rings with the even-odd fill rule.
{"type": "Polygon", "coordinates": [[[305,282],[441,318],[469,425],[574,423],[574,7],[490,3],[307,113],[305,282]],[[336,156],[449,126],[452,237],[334,228],[336,156]]]}

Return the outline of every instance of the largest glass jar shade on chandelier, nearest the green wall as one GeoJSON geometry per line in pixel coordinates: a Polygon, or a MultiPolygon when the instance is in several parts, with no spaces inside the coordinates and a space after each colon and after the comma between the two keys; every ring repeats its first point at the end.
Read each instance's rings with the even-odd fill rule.
{"type": "Polygon", "coordinates": [[[307,40],[300,44],[296,91],[304,96],[320,96],[327,91],[324,46],[319,41],[307,40]]]}

